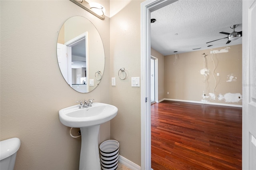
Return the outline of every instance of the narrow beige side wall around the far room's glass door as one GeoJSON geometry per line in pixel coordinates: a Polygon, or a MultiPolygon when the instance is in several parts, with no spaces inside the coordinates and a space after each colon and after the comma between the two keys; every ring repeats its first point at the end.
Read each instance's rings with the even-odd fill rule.
{"type": "Polygon", "coordinates": [[[151,48],[151,56],[156,57],[158,60],[158,99],[164,99],[164,55],[151,48]]]}

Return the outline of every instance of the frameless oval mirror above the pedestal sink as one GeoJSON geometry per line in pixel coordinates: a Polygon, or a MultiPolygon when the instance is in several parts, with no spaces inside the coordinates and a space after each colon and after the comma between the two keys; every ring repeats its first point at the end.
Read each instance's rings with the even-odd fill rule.
{"type": "Polygon", "coordinates": [[[100,34],[88,19],[74,16],[60,28],[57,58],[62,76],[74,90],[88,93],[104,73],[105,53],[100,34]]]}

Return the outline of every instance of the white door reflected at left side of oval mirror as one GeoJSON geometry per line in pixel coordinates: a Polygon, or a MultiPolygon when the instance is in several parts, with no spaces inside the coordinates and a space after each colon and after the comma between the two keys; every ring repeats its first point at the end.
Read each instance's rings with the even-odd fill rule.
{"type": "Polygon", "coordinates": [[[66,45],[57,43],[57,58],[60,71],[66,82],[68,82],[68,56],[66,54],[66,45]]]}

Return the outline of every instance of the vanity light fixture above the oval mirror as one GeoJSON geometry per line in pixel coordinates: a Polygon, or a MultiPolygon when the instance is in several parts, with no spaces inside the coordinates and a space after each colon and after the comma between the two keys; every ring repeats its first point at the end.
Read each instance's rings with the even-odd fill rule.
{"type": "Polygon", "coordinates": [[[106,9],[101,4],[98,4],[95,2],[92,2],[89,4],[85,0],[70,0],[70,1],[74,2],[74,4],[77,4],[78,6],[90,12],[94,16],[100,18],[101,20],[105,19],[104,13],[106,12],[106,9]]]}

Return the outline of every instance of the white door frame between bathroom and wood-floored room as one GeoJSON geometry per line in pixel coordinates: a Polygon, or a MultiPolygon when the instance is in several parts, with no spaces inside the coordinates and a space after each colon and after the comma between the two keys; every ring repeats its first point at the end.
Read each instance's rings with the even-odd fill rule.
{"type": "Polygon", "coordinates": [[[151,169],[151,115],[150,115],[150,16],[151,12],[177,0],[146,0],[140,6],[140,64],[141,64],[141,169],[151,169]]]}

